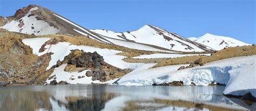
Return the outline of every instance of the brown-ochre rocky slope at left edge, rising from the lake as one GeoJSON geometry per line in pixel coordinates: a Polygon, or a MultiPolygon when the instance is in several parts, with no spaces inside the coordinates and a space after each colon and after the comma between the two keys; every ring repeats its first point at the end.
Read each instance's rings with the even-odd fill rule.
{"type": "Polygon", "coordinates": [[[49,77],[50,71],[46,71],[46,67],[50,54],[33,54],[32,48],[22,42],[24,38],[32,36],[0,31],[0,81],[12,82],[13,85],[39,84],[49,77]]]}

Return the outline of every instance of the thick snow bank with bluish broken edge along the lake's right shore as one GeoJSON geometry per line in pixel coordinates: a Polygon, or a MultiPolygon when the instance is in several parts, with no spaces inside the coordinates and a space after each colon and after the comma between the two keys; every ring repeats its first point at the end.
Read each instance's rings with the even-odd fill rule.
{"type": "Polygon", "coordinates": [[[152,85],[182,81],[184,85],[194,83],[206,86],[211,83],[226,84],[224,94],[256,94],[255,58],[242,56],[207,63],[204,66],[177,70],[181,65],[163,66],[130,72],[120,78],[119,85],[152,85]]]}

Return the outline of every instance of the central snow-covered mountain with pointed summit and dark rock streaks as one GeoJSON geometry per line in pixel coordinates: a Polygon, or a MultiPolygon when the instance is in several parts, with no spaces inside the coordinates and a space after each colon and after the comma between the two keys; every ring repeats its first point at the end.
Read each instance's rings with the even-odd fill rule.
{"type": "MultiPolygon", "coordinates": [[[[183,36],[168,32],[156,26],[145,25],[136,31],[127,31],[123,33],[108,31],[105,29],[91,29],[91,31],[107,36],[107,40],[117,43],[119,41],[132,41],[154,45],[165,49],[178,51],[208,51],[210,47],[201,45],[200,43],[192,42],[183,36]]],[[[121,44],[122,45],[122,44],[121,44]]]]}

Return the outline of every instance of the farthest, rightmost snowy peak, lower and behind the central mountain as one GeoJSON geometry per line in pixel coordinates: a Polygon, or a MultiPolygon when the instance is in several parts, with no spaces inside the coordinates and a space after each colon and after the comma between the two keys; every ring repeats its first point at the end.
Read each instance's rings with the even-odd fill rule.
{"type": "Polygon", "coordinates": [[[200,36],[199,38],[187,38],[191,41],[201,43],[205,46],[211,47],[215,50],[221,50],[225,47],[236,47],[236,46],[248,46],[250,44],[241,42],[239,40],[226,37],[226,36],[218,36],[206,33],[203,36],[200,36]]]}

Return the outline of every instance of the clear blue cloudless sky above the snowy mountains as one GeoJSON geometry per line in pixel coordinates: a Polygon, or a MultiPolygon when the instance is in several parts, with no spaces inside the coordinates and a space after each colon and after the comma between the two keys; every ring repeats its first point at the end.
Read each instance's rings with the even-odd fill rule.
{"type": "Polygon", "coordinates": [[[125,32],[150,24],[187,38],[211,33],[256,42],[255,0],[0,1],[4,17],[36,4],[89,29],[125,32]]]}

